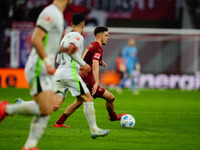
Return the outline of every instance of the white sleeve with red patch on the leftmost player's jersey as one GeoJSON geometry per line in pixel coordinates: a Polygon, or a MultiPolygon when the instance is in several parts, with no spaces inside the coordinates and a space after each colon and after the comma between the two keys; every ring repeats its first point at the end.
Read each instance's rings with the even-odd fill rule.
{"type": "Polygon", "coordinates": [[[43,11],[36,22],[36,26],[42,28],[46,32],[48,32],[54,24],[56,24],[54,15],[52,13],[47,13],[47,11],[43,11]]]}

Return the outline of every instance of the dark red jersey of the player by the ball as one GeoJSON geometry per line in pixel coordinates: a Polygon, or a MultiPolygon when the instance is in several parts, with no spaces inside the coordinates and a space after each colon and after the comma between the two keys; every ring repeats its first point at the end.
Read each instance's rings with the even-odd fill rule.
{"type": "MultiPolygon", "coordinates": [[[[100,62],[102,60],[102,54],[103,49],[101,45],[98,42],[94,41],[87,46],[82,55],[82,59],[92,68],[93,60],[98,60],[100,62]]],[[[93,79],[92,70],[86,78],[93,79]]]]}

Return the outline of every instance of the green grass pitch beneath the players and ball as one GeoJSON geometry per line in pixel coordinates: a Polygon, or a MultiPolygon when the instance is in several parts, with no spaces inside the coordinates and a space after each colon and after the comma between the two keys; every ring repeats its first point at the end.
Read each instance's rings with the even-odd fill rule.
{"type": "MultiPolygon", "coordinates": [[[[142,90],[139,96],[124,89],[115,91],[117,113],[132,114],[136,124],[123,129],[119,121],[111,122],[103,99],[95,99],[97,124],[110,134],[93,140],[80,107],[66,124],[71,128],[54,128],[54,122],[73,102],[69,93],[57,112],[53,112],[47,129],[38,143],[40,150],[199,150],[200,91],[142,90]]],[[[14,103],[15,98],[30,100],[28,89],[0,89],[0,99],[14,103]]],[[[32,117],[14,115],[0,123],[0,150],[19,150],[29,133],[32,117]]]]}

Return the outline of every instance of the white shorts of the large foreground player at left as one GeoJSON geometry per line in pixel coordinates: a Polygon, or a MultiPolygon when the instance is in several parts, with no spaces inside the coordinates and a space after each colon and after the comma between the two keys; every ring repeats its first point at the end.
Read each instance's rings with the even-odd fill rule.
{"type": "Polygon", "coordinates": [[[51,75],[40,75],[28,81],[31,96],[35,96],[42,91],[56,91],[55,81],[51,75]]]}

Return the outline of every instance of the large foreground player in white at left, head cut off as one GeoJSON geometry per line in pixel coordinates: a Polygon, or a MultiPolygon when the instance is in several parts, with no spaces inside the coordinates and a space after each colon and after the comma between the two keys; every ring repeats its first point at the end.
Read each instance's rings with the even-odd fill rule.
{"type": "Polygon", "coordinates": [[[32,51],[28,58],[25,74],[30,93],[35,101],[18,105],[0,103],[0,121],[13,114],[33,115],[28,139],[23,150],[37,150],[49,116],[54,108],[55,94],[54,60],[63,34],[63,11],[71,0],[54,0],[39,15],[32,35],[32,51]]]}

